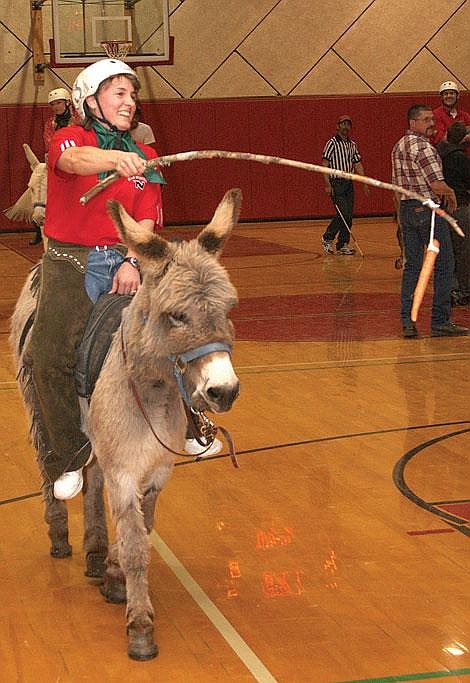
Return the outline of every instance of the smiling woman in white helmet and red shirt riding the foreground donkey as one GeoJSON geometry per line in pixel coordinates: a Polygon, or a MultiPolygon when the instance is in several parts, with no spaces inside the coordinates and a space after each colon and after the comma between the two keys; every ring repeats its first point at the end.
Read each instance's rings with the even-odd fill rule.
{"type": "Polygon", "coordinates": [[[145,168],[157,154],[129,133],[138,91],[137,75],[124,62],[103,59],[88,66],[72,90],[81,125],[57,129],[49,146],[48,249],[26,358],[44,426],[45,490],[61,500],[81,490],[91,452],[73,372],[79,341],[102,293],[134,294],[140,286],[139,262],[119,244],[107,202],[119,200],[150,230],[162,227],[165,181],[145,168]],[[82,206],[80,197],[113,170],[122,177],[82,206]]]}

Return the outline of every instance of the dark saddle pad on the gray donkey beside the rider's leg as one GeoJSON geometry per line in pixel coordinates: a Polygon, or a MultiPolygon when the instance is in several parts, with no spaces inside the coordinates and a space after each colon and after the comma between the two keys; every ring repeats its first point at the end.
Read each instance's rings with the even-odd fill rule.
{"type": "Polygon", "coordinates": [[[131,301],[132,296],[129,295],[103,294],[93,308],[80,343],[75,368],[77,393],[88,401],[111,346],[113,334],[121,322],[122,311],[131,301]]]}

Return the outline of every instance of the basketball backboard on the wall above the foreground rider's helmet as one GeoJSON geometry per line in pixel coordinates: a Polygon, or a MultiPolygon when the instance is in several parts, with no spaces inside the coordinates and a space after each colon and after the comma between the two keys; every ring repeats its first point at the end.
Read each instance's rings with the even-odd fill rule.
{"type": "Polygon", "coordinates": [[[106,41],[127,41],[130,64],[170,60],[168,0],[52,0],[52,21],[53,66],[106,57],[106,41]]]}

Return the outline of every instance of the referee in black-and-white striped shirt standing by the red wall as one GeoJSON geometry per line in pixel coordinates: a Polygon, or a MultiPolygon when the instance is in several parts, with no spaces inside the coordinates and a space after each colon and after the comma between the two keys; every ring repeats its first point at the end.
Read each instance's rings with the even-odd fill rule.
{"type": "MultiPolygon", "coordinates": [[[[347,114],[340,116],[336,125],[336,135],[330,138],[323,150],[323,166],[335,168],[338,171],[364,175],[361,155],[356,143],[350,139],[352,128],[351,117],[347,114]]],[[[327,254],[334,254],[333,242],[336,241],[336,253],[343,256],[353,256],[354,249],[349,246],[352,215],[354,209],[354,188],[351,180],[324,176],[325,191],[331,197],[336,215],[328,225],[322,237],[323,249],[327,254]]],[[[364,185],[364,192],[369,196],[369,187],[364,185]]]]}

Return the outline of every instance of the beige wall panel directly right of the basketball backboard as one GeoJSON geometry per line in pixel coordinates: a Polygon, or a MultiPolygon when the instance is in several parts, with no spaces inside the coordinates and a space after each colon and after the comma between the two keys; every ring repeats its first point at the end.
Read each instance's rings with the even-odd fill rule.
{"type": "Polygon", "coordinates": [[[173,66],[159,72],[183,97],[205,82],[265,16],[275,0],[186,0],[171,16],[173,66]]]}

